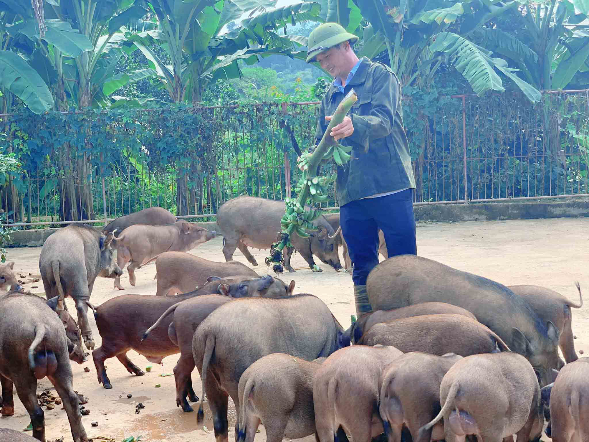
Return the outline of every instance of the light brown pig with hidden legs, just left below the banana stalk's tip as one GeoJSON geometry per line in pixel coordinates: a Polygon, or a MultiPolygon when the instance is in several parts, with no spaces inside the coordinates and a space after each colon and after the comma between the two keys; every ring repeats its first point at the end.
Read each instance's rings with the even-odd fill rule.
{"type": "Polygon", "coordinates": [[[164,252],[155,259],[158,296],[187,293],[203,286],[212,275],[259,276],[241,262],[214,262],[186,252],[164,252]]]}

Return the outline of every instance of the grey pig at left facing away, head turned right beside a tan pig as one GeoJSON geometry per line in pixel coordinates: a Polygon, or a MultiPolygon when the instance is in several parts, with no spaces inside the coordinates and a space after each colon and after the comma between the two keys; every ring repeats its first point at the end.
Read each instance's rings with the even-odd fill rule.
{"type": "Polygon", "coordinates": [[[120,278],[123,273],[112,258],[111,241],[112,233],[104,236],[92,226],[74,223],[49,236],[39,256],[45,296],[74,299],[78,326],[88,349],[94,349],[87,316],[94,281],[98,275],[120,278]]]}

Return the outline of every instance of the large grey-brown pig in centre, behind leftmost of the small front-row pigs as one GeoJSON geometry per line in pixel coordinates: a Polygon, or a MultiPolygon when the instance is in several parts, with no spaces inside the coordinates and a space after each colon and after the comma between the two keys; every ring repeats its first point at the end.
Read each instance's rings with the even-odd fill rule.
{"type": "MultiPolygon", "coordinates": [[[[194,332],[192,352],[217,440],[227,442],[227,398],[240,409],[238,384],[247,367],[271,353],[306,361],[328,356],[340,348],[342,332],[325,303],[308,294],[236,299],[207,316],[194,332]]],[[[203,417],[201,402],[197,421],[203,417]]]]}

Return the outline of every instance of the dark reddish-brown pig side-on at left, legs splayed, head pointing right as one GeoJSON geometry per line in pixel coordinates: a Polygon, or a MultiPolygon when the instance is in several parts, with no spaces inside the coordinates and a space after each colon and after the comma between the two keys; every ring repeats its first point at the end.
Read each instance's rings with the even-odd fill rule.
{"type": "MultiPolygon", "coordinates": [[[[102,383],[104,388],[112,388],[104,367],[104,361],[108,358],[117,357],[131,374],[134,373],[137,376],[145,374],[127,357],[127,351],[130,349],[134,349],[155,364],[160,364],[163,358],[178,352],[178,345],[168,338],[171,318],[158,320],[170,306],[194,296],[200,297],[211,293],[220,293],[227,299],[231,299],[229,297],[236,295],[241,283],[247,285],[252,296],[255,296],[260,289],[264,290],[272,285],[274,279],[269,281],[267,278],[244,276],[239,282],[214,281],[194,292],[180,296],[122,295],[102,303],[94,313],[102,345],[92,352],[98,383],[102,383]],[[154,324],[150,328],[152,332],[147,337],[144,331],[152,324],[154,324]]],[[[280,285],[277,287],[280,288],[280,285]]],[[[283,287],[284,284],[282,284],[283,287]]]]}

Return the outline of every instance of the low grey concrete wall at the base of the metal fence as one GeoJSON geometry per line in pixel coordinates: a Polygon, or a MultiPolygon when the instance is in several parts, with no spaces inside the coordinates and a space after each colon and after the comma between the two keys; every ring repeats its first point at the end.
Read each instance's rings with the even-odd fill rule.
{"type": "MultiPolygon", "coordinates": [[[[589,217],[589,199],[530,200],[472,204],[431,204],[415,206],[418,222],[490,221],[506,219],[538,219],[589,217]]],[[[201,227],[220,232],[216,222],[198,223],[201,227]]],[[[20,230],[13,233],[12,247],[38,247],[57,229],[20,230]]]]}

